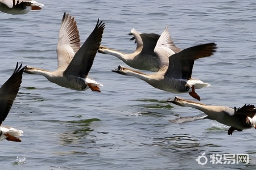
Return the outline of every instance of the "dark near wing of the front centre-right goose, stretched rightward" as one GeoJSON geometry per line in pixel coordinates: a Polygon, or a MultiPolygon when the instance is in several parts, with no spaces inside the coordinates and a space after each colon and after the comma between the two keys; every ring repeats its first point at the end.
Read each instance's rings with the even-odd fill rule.
{"type": "Polygon", "coordinates": [[[191,79],[193,65],[196,59],[212,56],[216,52],[216,44],[196,45],[169,57],[169,66],[165,76],[175,79],[191,79]]]}

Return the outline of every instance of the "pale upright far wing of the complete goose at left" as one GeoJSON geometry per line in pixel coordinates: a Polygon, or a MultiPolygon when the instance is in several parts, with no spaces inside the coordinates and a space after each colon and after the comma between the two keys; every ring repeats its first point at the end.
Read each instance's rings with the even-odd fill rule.
{"type": "Polygon", "coordinates": [[[63,15],[57,44],[58,69],[65,70],[80,48],[80,36],[73,16],[63,15]]]}

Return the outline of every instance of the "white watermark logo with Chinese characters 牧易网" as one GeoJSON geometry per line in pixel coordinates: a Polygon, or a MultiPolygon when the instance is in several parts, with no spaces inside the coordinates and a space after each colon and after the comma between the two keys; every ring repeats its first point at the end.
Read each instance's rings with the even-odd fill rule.
{"type": "MultiPolygon", "coordinates": [[[[208,162],[205,152],[195,159],[199,165],[205,165],[208,162]]],[[[210,163],[212,164],[249,164],[249,154],[211,154],[210,163]]]]}

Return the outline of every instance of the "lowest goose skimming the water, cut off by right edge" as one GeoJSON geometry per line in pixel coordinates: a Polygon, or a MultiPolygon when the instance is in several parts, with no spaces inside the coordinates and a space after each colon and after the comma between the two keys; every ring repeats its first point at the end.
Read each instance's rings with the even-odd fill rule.
{"type": "Polygon", "coordinates": [[[189,122],[208,118],[210,120],[216,120],[221,124],[231,126],[228,130],[228,135],[232,135],[234,130],[242,131],[243,129],[256,127],[256,108],[251,104],[245,104],[243,107],[237,109],[236,107],[229,108],[225,106],[206,105],[181,99],[179,97],[175,97],[168,101],[181,107],[192,107],[207,114],[207,116],[201,117],[181,117],[172,122],[189,122]]]}

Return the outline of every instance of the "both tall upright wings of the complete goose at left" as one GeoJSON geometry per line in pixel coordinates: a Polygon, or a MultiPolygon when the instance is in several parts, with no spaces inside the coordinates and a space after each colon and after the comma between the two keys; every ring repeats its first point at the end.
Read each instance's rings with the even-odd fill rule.
{"type": "Polygon", "coordinates": [[[86,78],[100,47],[104,28],[105,23],[98,20],[93,32],[80,48],[76,20],[64,13],[57,43],[58,70],[65,70],[64,74],[86,78]]]}

